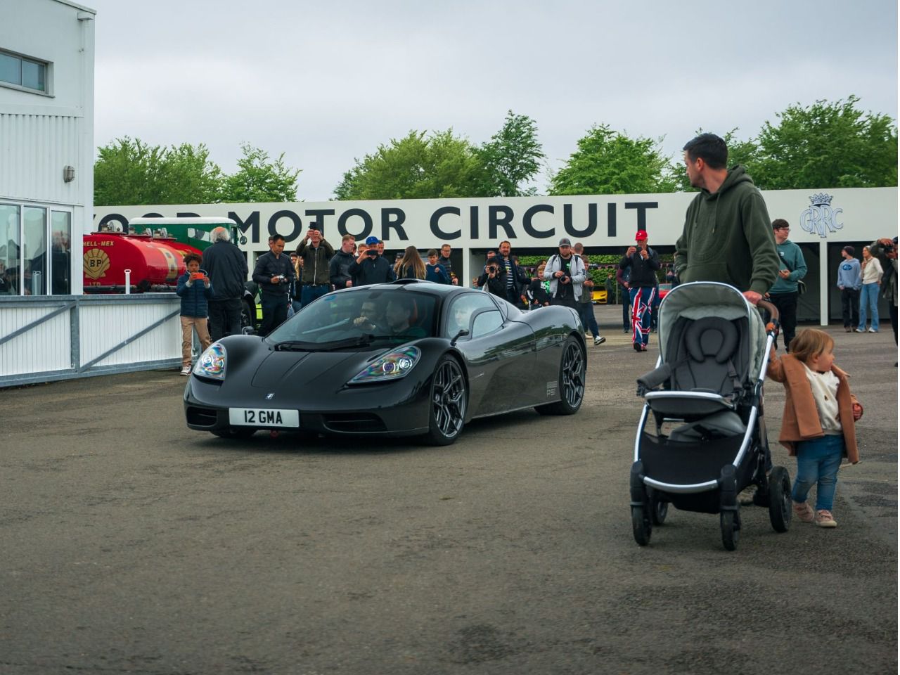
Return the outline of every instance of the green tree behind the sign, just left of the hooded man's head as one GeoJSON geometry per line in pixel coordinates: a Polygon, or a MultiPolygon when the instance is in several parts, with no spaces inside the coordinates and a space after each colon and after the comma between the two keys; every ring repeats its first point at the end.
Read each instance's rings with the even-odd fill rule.
{"type": "Polygon", "coordinates": [[[552,177],[550,193],[637,194],[672,192],[671,160],[660,141],[632,139],[608,125],[591,127],[578,149],[552,177]]]}

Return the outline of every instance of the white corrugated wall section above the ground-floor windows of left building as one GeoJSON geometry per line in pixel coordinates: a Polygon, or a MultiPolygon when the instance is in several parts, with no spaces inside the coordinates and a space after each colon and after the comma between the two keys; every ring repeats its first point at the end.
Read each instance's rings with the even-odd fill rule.
{"type": "Polygon", "coordinates": [[[81,203],[76,184],[64,183],[62,170],[81,166],[78,143],[83,123],[83,118],[67,115],[0,113],[0,195],[81,203]]]}

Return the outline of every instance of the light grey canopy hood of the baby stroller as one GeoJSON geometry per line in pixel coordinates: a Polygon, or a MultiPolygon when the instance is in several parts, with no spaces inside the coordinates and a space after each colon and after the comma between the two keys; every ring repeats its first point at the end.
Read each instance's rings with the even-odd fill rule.
{"type": "Polygon", "coordinates": [[[660,303],[659,335],[662,362],[671,356],[666,354],[669,334],[675,321],[681,317],[690,320],[720,317],[725,320],[746,317],[750,325],[750,378],[756,382],[760,376],[765,356],[766,329],[758,311],[734,286],[718,282],[692,282],[673,288],[660,303]]]}

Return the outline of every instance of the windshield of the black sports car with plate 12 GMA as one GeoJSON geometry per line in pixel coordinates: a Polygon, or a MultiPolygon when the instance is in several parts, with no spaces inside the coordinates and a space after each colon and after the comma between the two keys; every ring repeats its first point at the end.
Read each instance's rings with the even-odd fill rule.
{"type": "Polygon", "coordinates": [[[436,299],[404,289],[329,293],[273,330],[266,340],[291,351],[365,349],[435,335],[436,299]]]}

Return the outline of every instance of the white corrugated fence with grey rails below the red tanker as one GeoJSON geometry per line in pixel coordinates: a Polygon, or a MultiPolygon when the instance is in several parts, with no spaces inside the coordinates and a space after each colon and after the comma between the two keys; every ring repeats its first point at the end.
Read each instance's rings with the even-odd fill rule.
{"type": "Polygon", "coordinates": [[[175,293],[0,297],[0,387],[181,364],[175,293]]]}

